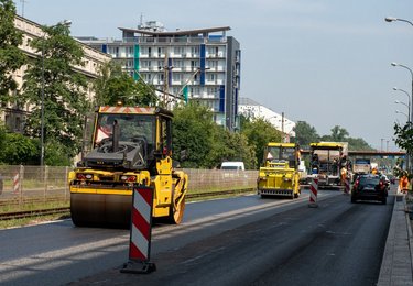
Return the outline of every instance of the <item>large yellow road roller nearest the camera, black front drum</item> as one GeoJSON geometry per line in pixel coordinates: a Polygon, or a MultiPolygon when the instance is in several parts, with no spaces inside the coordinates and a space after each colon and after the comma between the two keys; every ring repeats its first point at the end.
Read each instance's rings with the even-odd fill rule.
{"type": "Polygon", "coordinates": [[[69,173],[75,226],[130,226],[133,188],[153,188],[152,218],[180,223],[187,175],[173,168],[171,111],[99,107],[91,151],[69,173]]]}

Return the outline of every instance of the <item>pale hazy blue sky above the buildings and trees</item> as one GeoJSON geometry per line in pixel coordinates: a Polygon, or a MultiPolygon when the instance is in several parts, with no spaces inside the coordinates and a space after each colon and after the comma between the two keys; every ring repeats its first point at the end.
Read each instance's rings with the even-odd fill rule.
{"type": "Polygon", "coordinates": [[[306,121],[319,135],[335,125],[374,148],[398,150],[412,92],[411,0],[15,0],[39,24],[72,20],[73,36],[121,38],[118,28],[162,22],[169,31],[230,26],[240,42],[241,97],[306,121]],[[409,12],[411,11],[411,12],[409,12]]]}

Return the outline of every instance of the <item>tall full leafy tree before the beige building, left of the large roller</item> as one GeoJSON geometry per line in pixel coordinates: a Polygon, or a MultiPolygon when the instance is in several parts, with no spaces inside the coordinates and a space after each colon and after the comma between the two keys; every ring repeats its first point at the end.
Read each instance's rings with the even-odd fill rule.
{"type": "Polygon", "coordinates": [[[32,107],[25,133],[39,138],[42,123],[41,98],[44,96],[45,158],[51,162],[51,154],[47,154],[51,144],[58,143],[67,158],[78,154],[83,122],[90,106],[85,92],[86,77],[74,69],[75,66],[84,65],[81,46],[69,35],[68,26],[62,23],[43,26],[43,31],[44,37],[31,42],[31,46],[41,56],[29,64],[21,98],[32,107]]]}

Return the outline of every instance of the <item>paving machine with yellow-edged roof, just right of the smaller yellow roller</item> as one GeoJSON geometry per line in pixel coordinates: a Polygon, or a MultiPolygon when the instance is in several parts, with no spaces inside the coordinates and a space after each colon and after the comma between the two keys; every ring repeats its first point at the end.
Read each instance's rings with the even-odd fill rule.
{"type": "Polygon", "coordinates": [[[312,178],[318,178],[318,186],[344,185],[341,172],[348,173],[348,143],[347,142],[319,142],[309,144],[309,172],[307,184],[312,178]]]}

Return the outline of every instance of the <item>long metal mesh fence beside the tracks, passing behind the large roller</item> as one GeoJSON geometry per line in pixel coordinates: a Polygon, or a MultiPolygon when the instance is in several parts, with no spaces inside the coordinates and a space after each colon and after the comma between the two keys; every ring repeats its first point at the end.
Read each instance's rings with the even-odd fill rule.
{"type": "MultiPolygon", "coordinates": [[[[68,201],[72,167],[0,166],[0,205],[33,201],[68,201]]],[[[230,189],[254,189],[258,170],[185,168],[188,194],[230,189]]]]}

